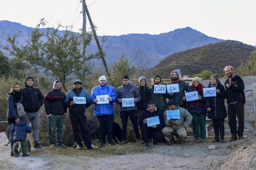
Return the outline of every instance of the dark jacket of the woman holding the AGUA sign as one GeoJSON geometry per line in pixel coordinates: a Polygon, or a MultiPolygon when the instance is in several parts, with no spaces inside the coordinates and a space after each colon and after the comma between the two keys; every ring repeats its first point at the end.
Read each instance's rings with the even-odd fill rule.
{"type": "MultiPolygon", "coordinates": [[[[191,85],[187,88],[187,92],[192,92],[194,90],[194,87],[191,85]]],[[[197,104],[193,104],[193,101],[187,102],[187,111],[189,113],[193,113],[193,114],[206,114],[206,108],[205,108],[205,102],[206,99],[203,96],[203,92],[198,91],[198,95],[202,96],[201,100],[198,100],[198,106],[197,104]]]]}

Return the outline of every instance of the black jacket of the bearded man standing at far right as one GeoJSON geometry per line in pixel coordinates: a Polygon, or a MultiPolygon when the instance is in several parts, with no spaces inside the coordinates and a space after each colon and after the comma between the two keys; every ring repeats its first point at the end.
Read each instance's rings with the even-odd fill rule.
{"type": "Polygon", "coordinates": [[[231,81],[227,78],[225,81],[225,87],[227,91],[227,103],[245,103],[244,82],[241,77],[234,75],[234,77],[231,78],[231,81]],[[227,83],[230,83],[229,88],[226,87],[227,83]]]}

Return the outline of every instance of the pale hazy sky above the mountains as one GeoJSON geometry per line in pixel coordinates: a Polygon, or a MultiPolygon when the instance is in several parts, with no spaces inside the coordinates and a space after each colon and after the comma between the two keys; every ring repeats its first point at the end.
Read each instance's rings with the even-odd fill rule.
{"type": "MultiPolygon", "coordinates": [[[[98,35],[160,34],[191,27],[211,37],[256,45],[255,0],[97,0],[88,9],[98,35]]],[[[80,0],[2,0],[0,20],[35,27],[45,17],[48,26],[60,21],[78,31],[81,10],[80,0]]]]}

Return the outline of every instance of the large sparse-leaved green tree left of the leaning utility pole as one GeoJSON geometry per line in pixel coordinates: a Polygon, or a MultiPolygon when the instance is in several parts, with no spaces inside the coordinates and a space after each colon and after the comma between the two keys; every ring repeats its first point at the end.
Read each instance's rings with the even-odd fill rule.
{"type": "Polygon", "coordinates": [[[16,56],[20,60],[24,60],[31,65],[35,71],[44,69],[46,76],[53,76],[58,78],[63,88],[66,88],[66,77],[71,73],[76,76],[81,76],[81,71],[86,71],[84,62],[98,58],[99,54],[83,55],[82,45],[88,46],[92,39],[92,33],[78,34],[68,30],[60,32],[58,25],[56,29],[48,28],[46,32],[39,31],[41,27],[46,26],[44,19],[32,31],[26,45],[18,47],[18,35],[9,36],[7,41],[11,44],[6,49],[11,55],[16,56]],[[84,37],[86,36],[86,37],[84,37]],[[84,44],[82,44],[82,42],[84,44]]]}

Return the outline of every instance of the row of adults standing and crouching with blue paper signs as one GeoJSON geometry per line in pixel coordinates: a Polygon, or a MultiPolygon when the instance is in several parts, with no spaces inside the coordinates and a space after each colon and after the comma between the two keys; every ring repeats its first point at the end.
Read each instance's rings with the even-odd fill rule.
{"type": "MultiPolygon", "coordinates": [[[[25,86],[20,87],[15,83],[8,95],[8,113],[7,119],[9,128],[13,129],[20,123],[17,114],[17,103],[24,106],[26,112],[27,125],[32,126],[32,136],[34,148],[41,148],[38,139],[39,128],[39,108],[45,103],[45,110],[49,117],[49,141],[51,147],[56,144],[60,147],[66,147],[63,144],[63,132],[65,130],[65,117],[67,108],[69,108],[69,117],[72,125],[73,135],[77,143],[76,149],[82,148],[82,141],[88,149],[95,148],[92,144],[91,135],[89,133],[86,109],[93,104],[94,115],[98,120],[98,128],[100,134],[100,145],[104,147],[107,140],[110,145],[115,145],[113,141],[113,120],[116,102],[120,106],[120,118],[122,122],[122,141],[126,142],[127,120],[130,117],[136,142],[144,143],[145,147],[150,147],[149,141],[152,140],[156,145],[159,141],[165,141],[165,137],[170,141],[167,144],[174,144],[175,137],[180,143],[186,140],[186,128],[193,123],[193,132],[195,142],[205,142],[206,114],[212,119],[215,131],[215,139],[213,142],[224,142],[224,119],[227,116],[224,99],[228,103],[228,124],[231,131],[230,141],[243,139],[244,131],[244,83],[243,80],[233,74],[233,68],[226,66],[224,72],[227,80],[224,86],[220,83],[217,75],[210,76],[208,87],[216,88],[216,96],[205,97],[203,95],[204,86],[201,79],[195,77],[192,85],[187,85],[180,80],[176,70],[170,73],[170,84],[178,84],[179,92],[154,93],[154,86],[163,85],[161,77],[154,77],[154,85],[152,88],[147,86],[146,78],[139,78],[139,87],[132,85],[129,76],[124,76],[122,85],[115,88],[108,84],[105,76],[99,78],[99,83],[92,89],[91,96],[86,89],[82,88],[82,81],[73,80],[73,89],[68,91],[67,95],[61,92],[61,82],[53,83],[53,90],[44,96],[40,90],[33,86],[32,77],[27,77],[25,86]],[[19,90],[20,89],[20,90],[19,90]],[[198,100],[187,101],[185,92],[197,91],[198,100]],[[125,106],[124,99],[132,99],[132,105],[125,106]],[[167,100],[169,100],[167,102],[167,100]],[[167,112],[169,110],[179,110],[179,119],[168,119],[167,112]],[[159,116],[159,124],[147,126],[148,118],[159,116]],[[237,129],[236,116],[239,119],[237,129]],[[139,127],[138,127],[139,126],[139,127]],[[56,135],[57,129],[57,135],[56,135]],[[238,136],[237,136],[238,135],[238,136]],[[57,141],[56,141],[57,136],[57,141]]],[[[15,133],[10,133],[11,147],[15,133]]],[[[16,138],[15,140],[21,140],[16,138]]],[[[12,155],[12,153],[11,153],[12,155]]]]}

